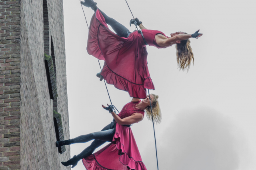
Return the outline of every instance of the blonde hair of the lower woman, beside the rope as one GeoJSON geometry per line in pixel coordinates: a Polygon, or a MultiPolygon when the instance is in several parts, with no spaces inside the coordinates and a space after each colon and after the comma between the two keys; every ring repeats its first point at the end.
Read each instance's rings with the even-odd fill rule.
{"type": "MultiPolygon", "coordinates": [[[[156,123],[156,124],[161,123],[162,113],[161,113],[161,109],[160,109],[159,102],[158,102],[159,96],[155,95],[155,94],[151,94],[151,95],[154,96],[154,100],[151,101],[154,123],[156,123]]],[[[150,106],[146,107],[145,110],[146,110],[146,115],[148,117],[148,120],[152,121],[150,106]]]]}

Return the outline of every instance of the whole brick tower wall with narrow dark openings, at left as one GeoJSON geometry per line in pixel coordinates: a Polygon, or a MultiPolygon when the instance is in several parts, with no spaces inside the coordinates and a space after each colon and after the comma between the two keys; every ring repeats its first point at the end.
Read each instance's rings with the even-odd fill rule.
{"type": "Polygon", "coordinates": [[[0,0],[0,170],[68,170],[62,0],[0,0]]]}

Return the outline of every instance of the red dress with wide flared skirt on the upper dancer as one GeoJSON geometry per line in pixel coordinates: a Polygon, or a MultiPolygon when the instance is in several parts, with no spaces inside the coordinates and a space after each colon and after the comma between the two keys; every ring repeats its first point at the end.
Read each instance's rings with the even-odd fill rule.
{"type": "MultiPolygon", "coordinates": [[[[155,35],[161,31],[142,29],[148,45],[159,47],[155,35]]],[[[166,36],[166,35],[165,35],[166,36]]],[[[146,88],[155,89],[147,64],[147,50],[142,35],[132,32],[128,38],[112,32],[99,10],[90,22],[87,51],[97,59],[104,60],[101,75],[108,84],[129,92],[131,97],[146,98],[146,88]]]]}

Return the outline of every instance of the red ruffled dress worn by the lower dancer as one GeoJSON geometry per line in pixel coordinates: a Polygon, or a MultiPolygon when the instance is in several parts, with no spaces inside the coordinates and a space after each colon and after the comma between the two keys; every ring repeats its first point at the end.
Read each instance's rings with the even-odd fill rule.
{"type": "MultiPolygon", "coordinates": [[[[130,102],[126,104],[118,116],[123,119],[133,113],[144,115],[144,110],[135,107],[138,103],[130,102]]],[[[116,123],[116,133],[112,143],[83,158],[82,162],[86,170],[146,170],[132,134],[132,129],[118,125],[118,123],[116,123]]]]}

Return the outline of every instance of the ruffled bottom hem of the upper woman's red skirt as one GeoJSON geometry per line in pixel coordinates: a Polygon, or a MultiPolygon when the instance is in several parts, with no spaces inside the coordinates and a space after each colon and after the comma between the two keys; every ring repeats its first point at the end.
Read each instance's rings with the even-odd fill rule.
{"type": "Polygon", "coordinates": [[[146,78],[143,84],[136,84],[114,73],[108,66],[104,66],[101,75],[108,84],[113,84],[119,90],[128,92],[133,98],[144,99],[147,94],[146,88],[155,89],[150,77],[146,78]]]}

